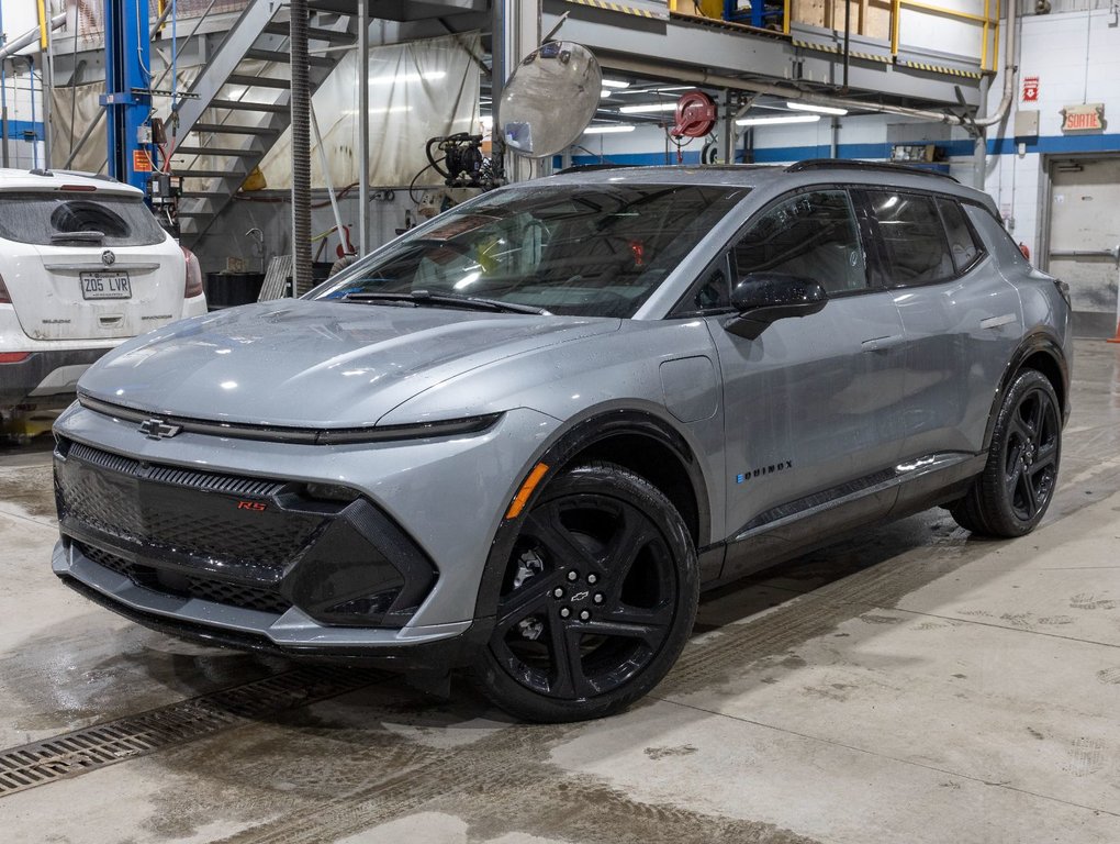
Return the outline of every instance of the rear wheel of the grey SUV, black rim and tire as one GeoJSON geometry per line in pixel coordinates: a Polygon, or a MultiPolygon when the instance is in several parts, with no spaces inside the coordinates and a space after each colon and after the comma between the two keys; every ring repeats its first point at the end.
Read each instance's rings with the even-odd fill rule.
{"type": "Polygon", "coordinates": [[[973,534],[1014,538],[1042,521],[1054,498],[1062,457],[1062,411],[1049,380],[1016,375],[992,429],[988,463],[950,513],[973,534]]]}

